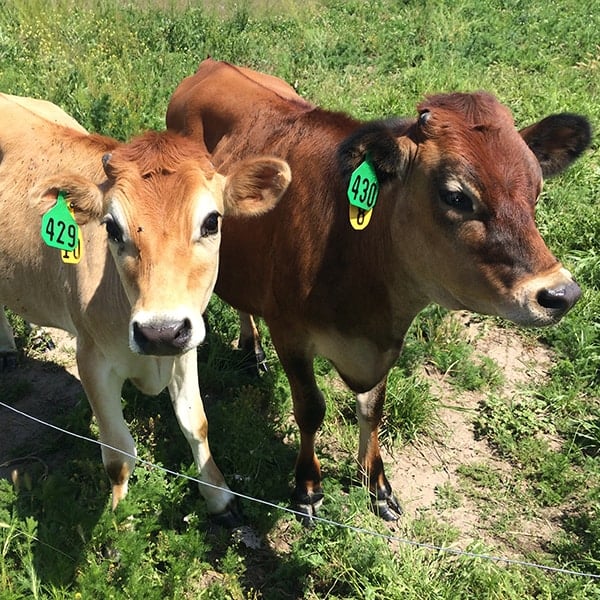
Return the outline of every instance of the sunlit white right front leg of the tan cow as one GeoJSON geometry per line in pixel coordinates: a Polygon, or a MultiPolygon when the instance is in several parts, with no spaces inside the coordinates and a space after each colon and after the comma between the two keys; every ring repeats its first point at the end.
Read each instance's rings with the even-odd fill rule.
{"type": "Polygon", "coordinates": [[[200,493],[206,500],[208,512],[224,526],[240,525],[236,498],[227,487],[208,445],[208,420],[200,396],[196,350],[175,359],[169,393],[179,427],[194,455],[202,482],[200,493]]]}

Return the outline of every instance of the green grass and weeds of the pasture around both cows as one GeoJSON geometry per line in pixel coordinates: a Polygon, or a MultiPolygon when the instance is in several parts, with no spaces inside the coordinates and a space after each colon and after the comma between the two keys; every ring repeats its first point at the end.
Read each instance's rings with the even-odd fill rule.
{"type": "MultiPolygon", "coordinates": [[[[127,139],[162,129],[173,90],[211,55],[278,75],[313,102],[365,119],[414,114],[427,93],[487,89],[519,125],[572,111],[597,129],[599,31],[600,4],[580,0],[0,0],[0,89],[51,100],[88,129],[127,139]]],[[[600,574],[599,189],[595,137],[568,173],[546,182],[538,208],[548,245],[584,288],[570,315],[529,332],[474,321],[483,333],[500,326],[525,345],[548,347],[546,378],[506,387],[502,369],[437,307],[411,328],[390,375],[386,449],[393,457],[410,452],[411,442],[433,449],[445,439],[442,409],[477,398],[473,427],[500,462],[462,464],[455,481],[438,486],[431,507],[403,517],[392,532],[398,537],[600,574]],[[453,519],[457,510],[472,513],[475,541],[453,519]],[[528,523],[551,525],[543,543],[523,541],[529,538],[519,528],[528,523]]],[[[298,433],[268,332],[271,369],[256,380],[240,370],[242,357],[231,348],[234,313],[214,299],[207,320],[200,377],[217,464],[233,489],[286,506],[298,433]]],[[[15,323],[24,371],[0,380],[9,403],[31,394],[27,368],[39,359],[29,331],[15,323]]],[[[390,533],[355,485],[352,396],[326,361],[317,372],[328,405],[318,439],[322,515],[390,533]]],[[[193,475],[168,397],[145,398],[127,386],[124,403],[140,456],[193,475]]],[[[57,421],[97,434],[85,403],[57,421]]],[[[250,550],[211,526],[194,484],[144,465],[113,513],[98,448],[44,439],[37,468],[27,465],[18,485],[0,481],[2,600],[600,598],[600,587],[582,577],[328,524],[306,530],[278,509],[243,500],[246,520],[263,538],[262,548],[250,550]],[[52,468],[42,468],[45,460],[52,468]]],[[[27,452],[17,448],[15,456],[27,452]]],[[[401,486],[396,492],[403,499],[401,486]]]]}

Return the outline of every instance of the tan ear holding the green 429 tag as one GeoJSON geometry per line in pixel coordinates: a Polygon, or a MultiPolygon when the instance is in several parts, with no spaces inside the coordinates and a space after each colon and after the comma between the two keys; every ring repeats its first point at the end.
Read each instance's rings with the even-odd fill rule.
{"type": "Polygon", "coordinates": [[[44,180],[31,191],[30,202],[44,214],[54,206],[59,192],[65,195],[79,225],[104,216],[102,191],[81,175],[61,174],[44,180]]]}

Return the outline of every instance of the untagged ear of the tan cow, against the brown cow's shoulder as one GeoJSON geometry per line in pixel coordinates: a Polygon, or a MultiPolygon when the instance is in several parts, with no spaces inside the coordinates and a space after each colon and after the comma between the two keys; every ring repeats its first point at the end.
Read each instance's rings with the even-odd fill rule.
{"type": "Polygon", "coordinates": [[[292,174],[278,158],[252,158],[238,162],[223,190],[225,215],[254,216],[271,210],[287,190],[292,174]]]}

